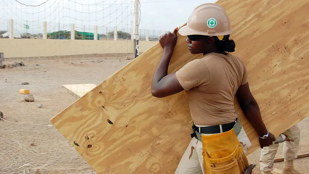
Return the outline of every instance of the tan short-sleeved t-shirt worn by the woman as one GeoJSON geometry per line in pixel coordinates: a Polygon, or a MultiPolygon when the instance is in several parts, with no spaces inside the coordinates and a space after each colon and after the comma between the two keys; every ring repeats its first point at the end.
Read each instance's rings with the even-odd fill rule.
{"type": "Polygon", "coordinates": [[[188,95],[194,123],[217,125],[237,118],[234,97],[238,87],[247,83],[247,70],[241,59],[209,53],[188,62],[176,76],[188,95]]]}

